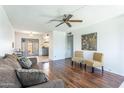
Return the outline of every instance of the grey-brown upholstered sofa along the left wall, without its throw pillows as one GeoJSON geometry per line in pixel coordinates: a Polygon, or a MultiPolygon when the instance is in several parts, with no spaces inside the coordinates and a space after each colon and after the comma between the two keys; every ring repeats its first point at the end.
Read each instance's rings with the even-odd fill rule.
{"type": "MultiPolygon", "coordinates": [[[[30,60],[32,61],[31,69],[39,69],[37,59],[30,58],[30,60]]],[[[0,88],[23,88],[15,71],[19,68],[22,69],[15,55],[9,54],[0,58],[0,88]]],[[[26,88],[64,88],[64,82],[60,79],[48,80],[26,88]]]]}

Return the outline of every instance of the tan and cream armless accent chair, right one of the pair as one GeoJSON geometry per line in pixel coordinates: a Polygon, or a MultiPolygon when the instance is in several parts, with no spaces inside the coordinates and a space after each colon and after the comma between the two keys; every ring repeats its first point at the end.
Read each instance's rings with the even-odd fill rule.
{"type": "Polygon", "coordinates": [[[91,66],[92,67],[92,73],[94,73],[94,68],[95,67],[101,67],[102,68],[102,73],[104,72],[103,54],[102,53],[95,52],[93,54],[93,60],[85,60],[84,63],[85,63],[85,70],[86,70],[86,66],[91,66]]]}

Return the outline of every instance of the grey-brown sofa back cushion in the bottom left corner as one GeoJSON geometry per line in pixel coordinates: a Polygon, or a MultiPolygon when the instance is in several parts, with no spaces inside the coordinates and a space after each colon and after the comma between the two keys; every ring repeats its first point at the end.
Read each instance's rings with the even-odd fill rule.
{"type": "Polygon", "coordinates": [[[15,70],[4,64],[0,64],[0,88],[20,88],[21,84],[15,70]]]}

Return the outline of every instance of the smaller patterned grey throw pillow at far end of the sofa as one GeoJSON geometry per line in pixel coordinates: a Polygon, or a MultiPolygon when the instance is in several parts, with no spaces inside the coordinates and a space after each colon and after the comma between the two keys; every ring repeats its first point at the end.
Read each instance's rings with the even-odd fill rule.
{"type": "Polygon", "coordinates": [[[26,68],[26,69],[29,69],[32,66],[32,62],[30,61],[29,58],[26,57],[19,58],[19,63],[22,66],[22,68],[26,68]]]}

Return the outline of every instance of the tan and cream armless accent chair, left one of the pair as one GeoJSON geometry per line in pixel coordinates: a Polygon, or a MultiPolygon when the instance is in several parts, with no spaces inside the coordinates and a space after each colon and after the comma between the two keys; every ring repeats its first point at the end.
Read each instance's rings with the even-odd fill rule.
{"type": "Polygon", "coordinates": [[[73,63],[78,63],[80,64],[80,66],[82,66],[83,61],[84,61],[83,51],[75,51],[72,57],[72,66],[73,66],[73,63]]]}

